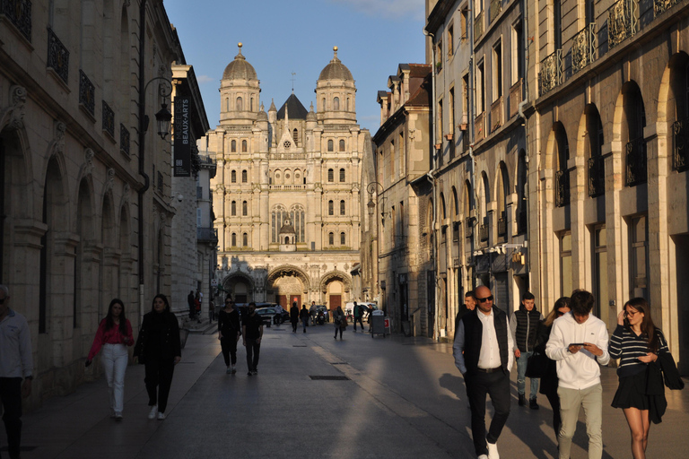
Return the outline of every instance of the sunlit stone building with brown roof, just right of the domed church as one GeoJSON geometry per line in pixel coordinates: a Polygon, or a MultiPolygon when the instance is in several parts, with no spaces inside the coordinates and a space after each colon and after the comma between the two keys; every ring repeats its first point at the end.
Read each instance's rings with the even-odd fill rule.
{"type": "Polygon", "coordinates": [[[400,64],[379,91],[380,127],[373,136],[374,180],[364,176],[370,196],[369,231],[362,276],[378,293],[393,329],[432,336],[435,273],[432,270],[431,65],[400,64]],[[373,252],[375,243],[376,251],[373,252]]]}

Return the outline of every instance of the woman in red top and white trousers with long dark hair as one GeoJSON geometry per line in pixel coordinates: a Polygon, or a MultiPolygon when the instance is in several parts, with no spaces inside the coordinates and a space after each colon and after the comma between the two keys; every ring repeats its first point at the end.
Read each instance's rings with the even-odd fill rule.
{"type": "Polygon", "coordinates": [[[129,361],[127,346],[134,345],[132,325],[125,316],[125,304],[121,299],[113,299],[108,307],[108,315],[100,321],[96,337],[93,338],[91,351],[84,365],[91,365],[93,357],[100,351],[100,362],[103,365],[105,381],[108,383],[108,400],[110,418],[122,420],[122,409],[125,403],[125,372],[129,361]]]}

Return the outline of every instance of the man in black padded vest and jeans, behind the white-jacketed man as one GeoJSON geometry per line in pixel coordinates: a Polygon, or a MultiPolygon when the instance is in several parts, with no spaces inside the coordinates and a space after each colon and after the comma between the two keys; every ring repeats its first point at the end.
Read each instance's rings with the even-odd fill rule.
{"type": "MultiPolygon", "coordinates": [[[[528,358],[534,354],[536,344],[536,331],[538,323],[543,320],[543,315],[536,310],[536,297],[530,291],[525,291],[521,296],[521,305],[510,317],[510,332],[514,340],[514,356],[517,358],[517,393],[519,394],[519,406],[526,402],[527,388],[527,364],[528,358]]],[[[536,394],[538,394],[538,378],[529,377],[528,407],[538,409],[536,394]]]]}

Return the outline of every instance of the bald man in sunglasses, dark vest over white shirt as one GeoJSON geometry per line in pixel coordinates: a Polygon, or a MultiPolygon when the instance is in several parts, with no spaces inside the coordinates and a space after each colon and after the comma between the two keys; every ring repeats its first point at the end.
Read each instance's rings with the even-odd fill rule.
{"type": "Polygon", "coordinates": [[[493,294],[482,285],[475,290],[475,310],[462,316],[452,346],[455,365],[467,385],[471,434],[478,459],[499,459],[498,437],[510,416],[510,370],[514,363],[507,315],[493,306],[493,294]],[[485,435],[485,395],[494,414],[485,435]]]}

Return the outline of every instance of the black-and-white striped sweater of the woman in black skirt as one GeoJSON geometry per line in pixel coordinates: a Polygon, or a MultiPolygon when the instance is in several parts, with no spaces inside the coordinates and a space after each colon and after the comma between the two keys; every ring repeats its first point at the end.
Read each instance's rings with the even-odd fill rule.
{"type": "MultiPolygon", "coordinates": [[[[667,352],[667,341],[659,328],[658,333],[658,354],[667,352]]],[[[639,358],[649,352],[648,336],[641,333],[637,336],[624,325],[617,325],[615,333],[610,338],[607,351],[612,359],[620,359],[620,366],[617,368],[617,376],[631,377],[646,369],[645,363],[639,358]]]]}

